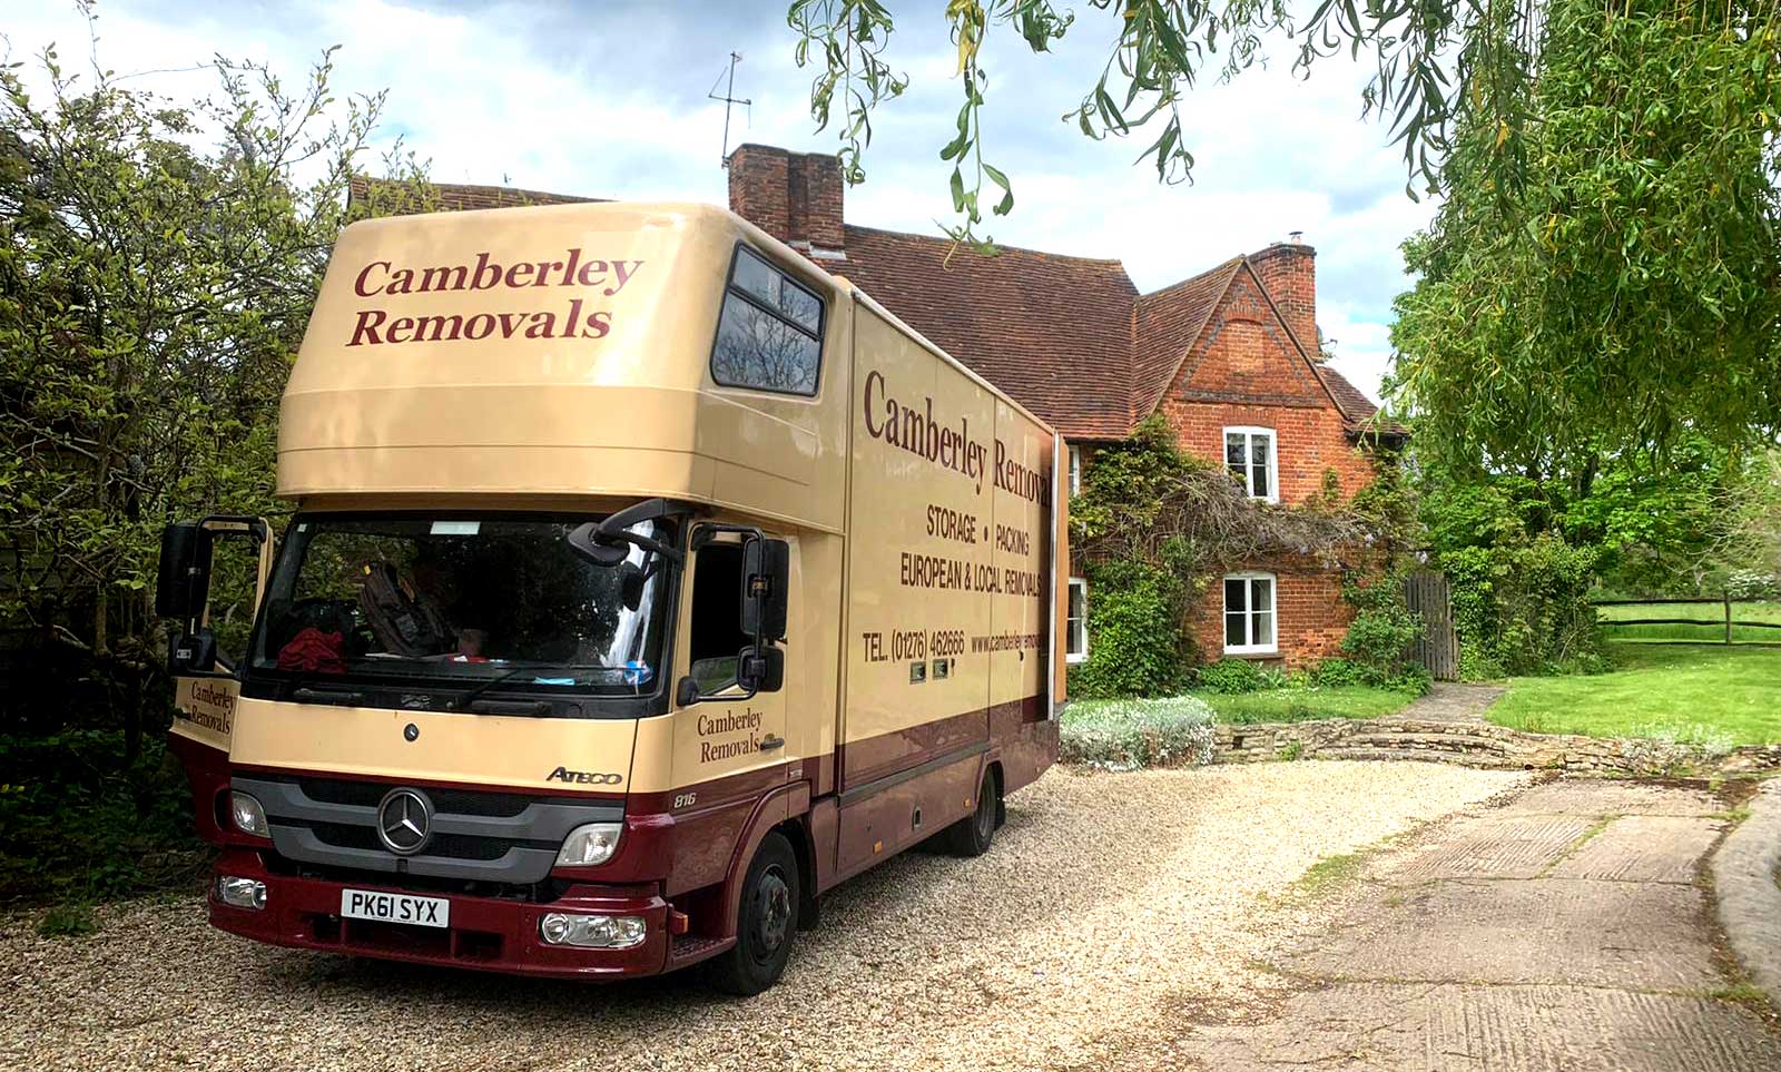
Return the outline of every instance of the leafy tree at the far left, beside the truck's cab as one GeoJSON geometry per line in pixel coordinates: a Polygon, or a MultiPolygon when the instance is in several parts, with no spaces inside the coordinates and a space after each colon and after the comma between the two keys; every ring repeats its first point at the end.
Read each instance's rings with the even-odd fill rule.
{"type": "Polygon", "coordinates": [[[337,103],[331,53],[294,89],[214,68],[189,105],[53,50],[41,100],[0,69],[0,623],[89,686],[21,680],[12,714],[87,709],[126,757],[159,531],[274,509],[278,397],[383,103],[337,103]]]}

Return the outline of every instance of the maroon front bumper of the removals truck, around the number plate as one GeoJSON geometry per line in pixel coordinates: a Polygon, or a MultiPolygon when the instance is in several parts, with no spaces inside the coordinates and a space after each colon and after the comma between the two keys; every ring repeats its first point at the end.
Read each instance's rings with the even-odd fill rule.
{"type": "Polygon", "coordinates": [[[566,979],[654,976],[668,963],[668,903],[648,885],[573,885],[549,905],[449,894],[451,926],[426,928],[342,919],[340,890],[445,894],[272,874],[255,849],[226,849],[216,873],[264,881],[265,908],[224,905],[212,889],[210,924],[274,946],[566,979]],[[538,937],[538,919],[547,912],[641,915],[648,938],[630,949],[547,946],[538,937]]]}

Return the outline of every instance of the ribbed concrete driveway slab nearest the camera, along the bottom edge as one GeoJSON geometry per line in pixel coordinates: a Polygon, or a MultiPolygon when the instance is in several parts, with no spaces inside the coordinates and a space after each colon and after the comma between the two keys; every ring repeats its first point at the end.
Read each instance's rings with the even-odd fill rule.
{"type": "Polygon", "coordinates": [[[1582,987],[1330,983],[1263,1024],[1188,1040],[1220,1072],[1774,1072],[1781,1049],[1754,1015],[1710,997],[1582,987]]]}

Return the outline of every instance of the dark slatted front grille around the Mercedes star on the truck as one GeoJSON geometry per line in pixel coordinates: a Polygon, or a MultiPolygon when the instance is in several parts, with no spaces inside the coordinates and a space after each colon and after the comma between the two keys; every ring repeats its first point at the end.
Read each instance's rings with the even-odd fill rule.
{"type": "Polygon", "coordinates": [[[623,819],[623,801],[470,789],[415,789],[431,807],[422,851],[401,857],[378,837],[395,789],[344,778],[233,778],[265,808],[272,849],[292,862],[358,874],[404,874],[524,887],[550,874],[563,839],[584,823],[623,819]]]}

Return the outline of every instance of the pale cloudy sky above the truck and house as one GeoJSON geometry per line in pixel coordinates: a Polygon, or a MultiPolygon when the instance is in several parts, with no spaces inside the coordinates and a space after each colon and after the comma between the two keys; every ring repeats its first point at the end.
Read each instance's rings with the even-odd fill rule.
{"type": "MultiPolygon", "coordinates": [[[[1063,0],[1060,7],[1070,7],[1063,0]]],[[[1409,280],[1398,244],[1432,205],[1405,194],[1387,128],[1361,116],[1366,71],[1345,55],[1295,75],[1289,41],[1231,84],[1200,82],[1183,125],[1193,182],[1159,185],[1134,164],[1149,139],[1095,142],[1060,118],[1088,91],[1115,16],[1074,4],[1078,21],[1035,57],[992,27],[983,66],[985,157],[1010,175],[1015,210],[980,233],[997,242],[1126,264],[1140,290],[1304,231],[1318,258],[1318,322],[1334,367],[1378,397],[1389,367],[1391,301],[1409,280]]],[[[34,62],[55,43],[64,66],[96,55],[128,85],[203,96],[214,55],[267,62],[296,80],[338,45],[340,93],[388,89],[379,139],[401,137],[438,182],[508,183],[566,194],[725,201],[725,105],[707,98],[732,50],[730,146],[832,151],[809,114],[814,71],[794,62],[785,0],[96,0],[96,46],[73,0],[0,0],[0,48],[34,62]]],[[[942,5],[892,2],[887,53],[910,78],[883,105],[867,182],[846,192],[848,223],[939,233],[951,221],[939,150],[960,89],[942,5]]]]}

